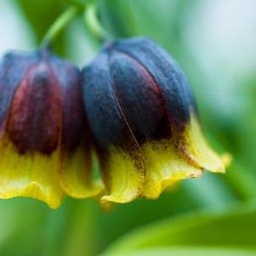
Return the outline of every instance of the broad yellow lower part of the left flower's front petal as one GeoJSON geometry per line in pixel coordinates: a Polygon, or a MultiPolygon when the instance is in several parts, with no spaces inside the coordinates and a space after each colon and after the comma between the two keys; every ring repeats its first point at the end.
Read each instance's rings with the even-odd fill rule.
{"type": "Polygon", "coordinates": [[[60,206],[64,195],[55,172],[60,165],[59,151],[51,156],[19,154],[6,138],[0,151],[0,198],[26,196],[46,202],[50,208],[60,206]]]}

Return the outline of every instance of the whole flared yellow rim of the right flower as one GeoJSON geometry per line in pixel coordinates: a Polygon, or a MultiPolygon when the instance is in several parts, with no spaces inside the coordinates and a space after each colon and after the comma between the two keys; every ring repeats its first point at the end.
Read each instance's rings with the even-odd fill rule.
{"type": "Polygon", "coordinates": [[[139,167],[145,171],[139,170],[127,152],[111,149],[104,170],[110,195],[102,201],[131,202],[138,196],[156,199],[182,179],[201,177],[204,170],[225,173],[230,163],[229,154],[219,156],[210,148],[192,111],[180,145],[174,146],[172,139],[145,142],[139,167]]]}

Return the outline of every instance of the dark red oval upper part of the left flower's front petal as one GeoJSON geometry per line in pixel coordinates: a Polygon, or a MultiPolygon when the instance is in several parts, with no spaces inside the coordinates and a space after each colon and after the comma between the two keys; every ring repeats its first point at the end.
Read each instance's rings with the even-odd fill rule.
{"type": "Polygon", "coordinates": [[[14,94],[7,131],[20,153],[50,155],[60,138],[60,85],[46,62],[26,72],[14,94]]]}

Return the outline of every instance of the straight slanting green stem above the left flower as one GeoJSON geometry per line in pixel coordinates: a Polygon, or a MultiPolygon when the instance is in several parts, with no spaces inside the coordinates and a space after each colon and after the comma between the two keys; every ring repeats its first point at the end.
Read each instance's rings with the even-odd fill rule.
{"type": "Polygon", "coordinates": [[[46,47],[51,42],[54,41],[54,39],[60,34],[60,31],[62,31],[65,26],[68,25],[68,23],[77,15],[79,12],[79,8],[77,6],[71,6],[68,9],[65,10],[63,14],[60,14],[60,17],[55,20],[54,24],[50,26],[47,33],[43,37],[42,40],[42,46],[46,47]]]}

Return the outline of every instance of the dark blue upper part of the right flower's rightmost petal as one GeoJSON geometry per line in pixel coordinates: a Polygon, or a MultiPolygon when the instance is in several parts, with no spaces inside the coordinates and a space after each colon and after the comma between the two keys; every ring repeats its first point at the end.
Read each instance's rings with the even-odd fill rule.
{"type": "Polygon", "coordinates": [[[178,63],[159,45],[145,37],[117,40],[111,48],[124,52],[149,71],[162,91],[172,136],[184,132],[190,110],[196,109],[190,83],[178,63]]]}

